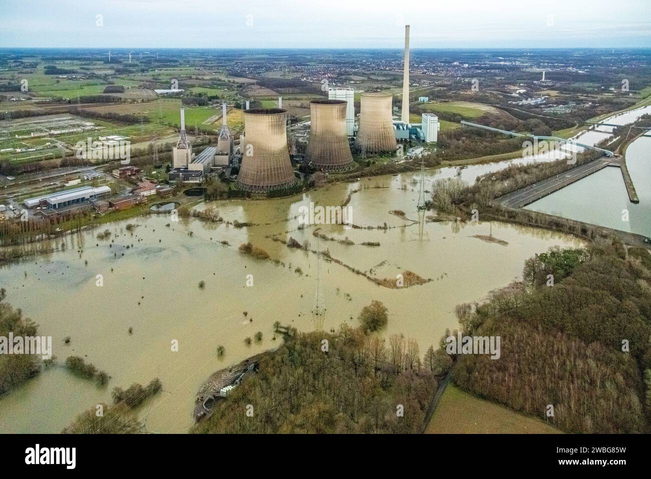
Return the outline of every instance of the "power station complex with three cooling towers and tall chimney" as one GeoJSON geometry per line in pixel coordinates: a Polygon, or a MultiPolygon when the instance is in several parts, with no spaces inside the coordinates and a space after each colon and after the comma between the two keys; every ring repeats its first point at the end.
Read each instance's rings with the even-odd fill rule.
{"type": "MultiPolygon", "coordinates": [[[[250,109],[249,102],[246,102],[244,132],[240,136],[237,157],[226,123],[225,103],[217,147],[208,147],[197,156],[193,155],[187,139],[184,110],[181,109],[181,131],[178,143],[173,148],[170,180],[201,182],[212,169],[229,167],[233,159],[237,166],[237,159],[241,156],[236,178],[238,189],[268,193],[296,185],[288,148],[288,112],[283,109],[282,101],[282,97],[279,97],[277,108],[260,109],[250,109]]],[[[400,120],[393,119],[392,94],[363,92],[360,95],[359,126],[355,131],[354,102],[355,91],[342,87],[329,88],[328,100],[310,102],[306,163],[320,171],[346,171],[355,167],[351,142],[354,150],[365,157],[367,154],[395,152],[398,141],[437,141],[440,124],[434,113],[422,114],[420,124],[409,121],[409,25],[405,27],[400,120]]],[[[422,150],[422,146],[410,148],[408,156],[420,154],[422,150]]],[[[235,180],[235,177],[232,179],[235,180]]]]}

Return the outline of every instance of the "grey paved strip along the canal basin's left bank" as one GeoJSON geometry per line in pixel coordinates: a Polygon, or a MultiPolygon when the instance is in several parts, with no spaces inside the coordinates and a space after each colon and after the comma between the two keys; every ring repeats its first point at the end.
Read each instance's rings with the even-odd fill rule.
{"type": "Polygon", "coordinates": [[[540,198],[550,195],[554,191],[558,191],[569,184],[581,180],[581,178],[585,178],[589,174],[600,171],[612,161],[611,158],[606,157],[590,161],[570,171],[542,180],[542,182],[518,189],[513,193],[508,193],[508,195],[497,198],[496,201],[507,208],[523,208],[527,204],[531,204],[540,198]]]}

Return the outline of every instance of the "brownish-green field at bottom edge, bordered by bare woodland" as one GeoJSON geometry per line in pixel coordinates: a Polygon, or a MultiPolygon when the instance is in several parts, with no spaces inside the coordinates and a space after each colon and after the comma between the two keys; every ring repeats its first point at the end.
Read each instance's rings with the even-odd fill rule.
{"type": "Polygon", "coordinates": [[[468,394],[453,385],[443,392],[426,433],[430,434],[559,434],[546,422],[468,394]]]}

